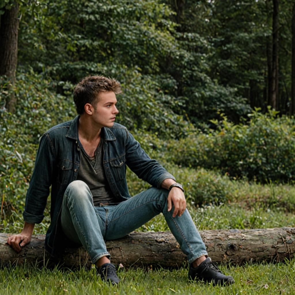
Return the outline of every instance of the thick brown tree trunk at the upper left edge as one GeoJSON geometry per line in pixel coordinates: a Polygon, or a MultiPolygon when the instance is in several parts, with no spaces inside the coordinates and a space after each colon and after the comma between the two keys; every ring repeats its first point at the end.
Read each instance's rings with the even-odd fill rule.
{"type": "Polygon", "coordinates": [[[17,35],[19,19],[17,14],[19,4],[15,3],[12,8],[4,9],[0,24],[0,75],[6,75],[9,79],[10,96],[6,99],[6,109],[15,111],[16,96],[14,95],[15,71],[17,68],[17,35]]]}

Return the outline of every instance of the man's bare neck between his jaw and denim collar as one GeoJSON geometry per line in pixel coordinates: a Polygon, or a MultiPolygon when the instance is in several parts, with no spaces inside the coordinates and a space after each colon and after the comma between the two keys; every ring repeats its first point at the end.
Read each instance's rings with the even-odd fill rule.
{"type": "Polygon", "coordinates": [[[87,116],[83,114],[79,118],[78,122],[78,136],[80,140],[86,140],[88,142],[96,141],[101,134],[101,127],[93,124],[87,116]]]}

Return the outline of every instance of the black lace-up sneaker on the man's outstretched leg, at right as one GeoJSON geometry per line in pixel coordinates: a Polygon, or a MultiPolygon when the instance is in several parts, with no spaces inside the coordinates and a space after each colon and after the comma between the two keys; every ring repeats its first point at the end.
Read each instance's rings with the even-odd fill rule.
{"type": "Polygon", "coordinates": [[[232,276],[225,276],[218,268],[216,262],[208,257],[198,267],[189,266],[189,279],[193,281],[204,281],[213,285],[230,285],[235,283],[232,276]]]}

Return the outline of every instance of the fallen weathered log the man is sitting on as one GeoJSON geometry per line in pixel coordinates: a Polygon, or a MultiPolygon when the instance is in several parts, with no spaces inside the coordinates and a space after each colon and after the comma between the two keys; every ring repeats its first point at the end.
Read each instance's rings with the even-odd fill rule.
{"type": "MultiPolygon", "coordinates": [[[[217,262],[241,264],[247,261],[279,262],[294,257],[295,228],[283,227],[252,230],[204,230],[200,235],[208,255],[217,262]]],[[[9,234],[0,233],[2,264],[46,263],[45,235],[33,235],[20,253],[7,243],[9,234]]],[[[106,242],[113,264],[125,267],[158,265],[178,267],[186,263],[184,255],[170,232],[132,232],[119,240],[106,242]]],[[[91,261],[83,247],[66,249],[62,263],[66,267],[89,267],[91,261]]]]}

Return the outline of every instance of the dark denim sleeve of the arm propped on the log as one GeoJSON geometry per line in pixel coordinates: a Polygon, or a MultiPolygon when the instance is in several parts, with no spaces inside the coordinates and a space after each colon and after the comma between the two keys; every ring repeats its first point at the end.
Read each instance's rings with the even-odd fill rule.
{"type": "Polygon", "coordinates": [[[27,190],[24,221],[29,223],[42,222],[44,209],[52,182],[55,155],[50,137],[45,133],[40,140],[36,155],[35,168],[27,190]]]}

